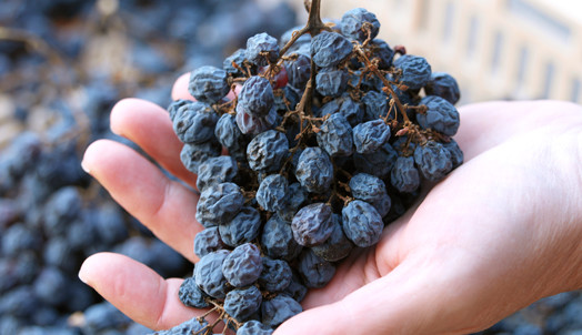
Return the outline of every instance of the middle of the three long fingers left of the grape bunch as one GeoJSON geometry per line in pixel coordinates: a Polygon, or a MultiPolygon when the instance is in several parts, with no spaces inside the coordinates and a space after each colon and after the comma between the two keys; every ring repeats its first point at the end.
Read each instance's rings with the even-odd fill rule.
{"type": "Polygon", "coordinates": [[[198,260],[192,241],[203,227],[195,221],[197,194],[114,141],[100,140],[89,145],[82,166],[161,241],[188,260],[198,260]]]}

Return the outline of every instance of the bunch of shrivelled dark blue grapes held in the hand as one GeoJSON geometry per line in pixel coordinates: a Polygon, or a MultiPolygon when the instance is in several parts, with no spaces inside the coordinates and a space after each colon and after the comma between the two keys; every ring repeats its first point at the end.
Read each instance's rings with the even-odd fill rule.
{"type": "Polygon", "coordinates": [[[463,161],[454,78],[378,39],[368,10],[323,23],[311,6],[304,28],[255,34],[222,69],[194,70],[197,101],[168,108],[205,227],[179,296],[219,317],[158,334],[211,334],[218,322],[271,334],[353,248],[379,242],[423,181],[463,161]]]}

